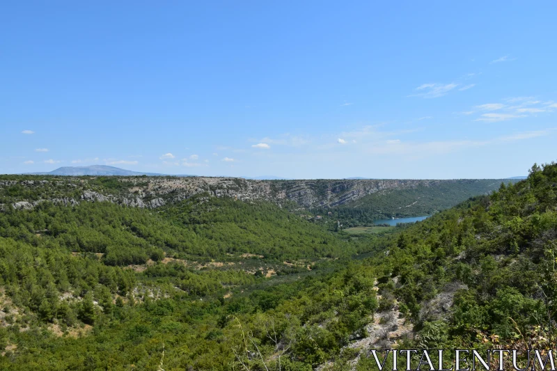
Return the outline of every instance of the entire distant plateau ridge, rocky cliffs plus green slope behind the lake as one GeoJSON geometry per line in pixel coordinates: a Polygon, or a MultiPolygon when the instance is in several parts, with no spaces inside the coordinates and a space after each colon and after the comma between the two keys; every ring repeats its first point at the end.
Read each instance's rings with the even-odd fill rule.
{"type": "MultiPolygon", "coordinates": [[[[489,194],[509,180],[246,180],[225,177],[0,176],[0,206],[31,208],[43,200],[64,205],[108,200],[156,208],[198,194],[243,201],[295,202],[306,210],[347,206],[366,216],[421,215],[489,194]],[[411,205],[411,207],[407,207],[411,205]]],[[[324,212],[326,213],[326,212],[324,212]]],[[[347,216],[342,210],[339,217],[347,216]]],[[[352,218],[352,216],[350,216],[352,218]]]]}

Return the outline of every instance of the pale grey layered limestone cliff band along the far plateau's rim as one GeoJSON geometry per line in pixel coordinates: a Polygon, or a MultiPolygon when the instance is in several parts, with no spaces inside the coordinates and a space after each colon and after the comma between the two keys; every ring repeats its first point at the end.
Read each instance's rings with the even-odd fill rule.
{"type": "Polygon", "coordinates": [[[80,202],[109,201],[130,207],[155,208],[207,192],[214,197],[237,200],[267,200],[281,205],[292,200],[301,207],[335,207],[352,203],[377,192],[388,193],[416,187],[455,184],[466,187],[486,182],[486,191],[495,189],[501,180],[246,180],[233,177],[115,177],[123,187],[118,191],[102,187],[95,177],[29,177],[2,180],[0,195],[10,194],[10,187],[31,187],[39,199],[10,198],[16,209],[29,209],[50,200],[64,205],[80,202]],[[460,183],[460,184],[457,184],[460,183]]]}

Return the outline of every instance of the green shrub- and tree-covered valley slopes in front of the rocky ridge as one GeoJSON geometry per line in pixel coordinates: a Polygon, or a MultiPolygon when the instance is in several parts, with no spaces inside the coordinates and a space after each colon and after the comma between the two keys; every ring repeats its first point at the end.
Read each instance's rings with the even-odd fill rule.
{"type": "Polygon", "coordinates": [[[203,194],[5,208],[0,368],[368,370],[356,345],[554,346],[556,192],[557,165],[535,165],[379,237],[203,194]]]}

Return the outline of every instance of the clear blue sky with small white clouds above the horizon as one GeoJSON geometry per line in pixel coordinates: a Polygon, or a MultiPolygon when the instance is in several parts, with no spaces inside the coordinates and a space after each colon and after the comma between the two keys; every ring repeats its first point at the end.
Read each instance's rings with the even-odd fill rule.
{"type": "Polygon", "coordinates": [[[555,1],[0,5],[0,173],[525,175],[557,157],[555,1]]]}

